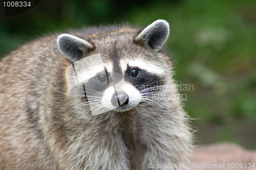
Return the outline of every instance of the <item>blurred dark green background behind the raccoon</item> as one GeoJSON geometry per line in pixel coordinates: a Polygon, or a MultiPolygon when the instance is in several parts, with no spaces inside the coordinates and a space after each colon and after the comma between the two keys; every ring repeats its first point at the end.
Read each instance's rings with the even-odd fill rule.
{"type": "Polygon", "coordinates": [[[10,17],[0,7],[0,56],[56,31],[125,21],[144,27],[167,20],[175,79],[194,86],[180,92],[195,118],[196,144],[231,141],[256,149],[255,0],[41,0],[10,17]]]}

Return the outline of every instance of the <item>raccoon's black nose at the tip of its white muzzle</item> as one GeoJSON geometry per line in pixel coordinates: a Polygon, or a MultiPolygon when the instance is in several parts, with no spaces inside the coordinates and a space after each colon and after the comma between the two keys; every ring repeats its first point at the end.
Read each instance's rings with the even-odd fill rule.
{"type": "Polygon", "coordinates": [[[111,103],[115,107],[125,106],[129,103],[129,97],[123,91],[115,92],[111,97],[111,103]]]}

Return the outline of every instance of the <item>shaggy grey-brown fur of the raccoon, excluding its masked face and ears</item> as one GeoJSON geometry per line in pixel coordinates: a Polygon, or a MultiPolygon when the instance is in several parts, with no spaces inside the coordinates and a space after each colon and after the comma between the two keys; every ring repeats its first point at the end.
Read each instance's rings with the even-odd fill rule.
{"type": "MultiPolygon", "coordinates": [[[[160,40],[152,46],[159,49],[168,35],[162,22],[156,28],[163,28],[160,40]]],[[[175,86],[167,55],[138,42],[140,33],[125,25],[74,30],[68,34],[93,48],[87,43],[85,48],[78,43],[79,47],[72,46],[71,50],[60,43],[58,47],[59,34],[53,34],[28,42],[3,58],[0,169],[143,170],[150,169],[150,162],[187,162],[193,148],[192,135],[179,98],[168,98],[178,96],[175,88],[159,91],[164,100],[154,98],[155,103],[141,102],[128,111],[95,116],[88,105],[82,105],[81,96],[68,93],[65,70],[77,60],[71,51],[89,46],[92,50],[79,58],[100,54],[103,62],[115,64],[121,59],[148,61],[164,70],[160,79],[165,86],[175,86]]],[[[150,37],[150,31],[145,35],[150,37]]],[[[97,61],[91,64],[97,65],[97,61]]]]}

